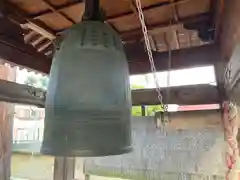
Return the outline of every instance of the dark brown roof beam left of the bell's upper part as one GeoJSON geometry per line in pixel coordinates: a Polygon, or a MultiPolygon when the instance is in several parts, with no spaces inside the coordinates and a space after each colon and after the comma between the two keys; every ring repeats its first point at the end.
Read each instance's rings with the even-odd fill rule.
{"type": "MultiPolygon", "coordinates": [[[[51,66],[51,60],[30,45],[25,44],[22,28],[7,19],[0,17],[0,58],[30,69],[42,69],[41,72],[49,72],[45,67],[51,66]]],[[[34,34],[34,33],[33,33],[34,34]]],[[[29,40],[27,38],[26,40],[29,40]]]]}

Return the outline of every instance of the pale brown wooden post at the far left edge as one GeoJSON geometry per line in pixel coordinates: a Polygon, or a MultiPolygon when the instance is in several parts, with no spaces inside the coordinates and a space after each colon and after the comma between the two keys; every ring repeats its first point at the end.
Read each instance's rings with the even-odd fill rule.
{"type": "MultiPolygon", "coordinates": [[[[0,79],[15,80],[15,73],[10,67],[0,65],[0,79]]],[[[0,102],[0,179],[10,180],[12,122],[14,105],[0,102]]]]}

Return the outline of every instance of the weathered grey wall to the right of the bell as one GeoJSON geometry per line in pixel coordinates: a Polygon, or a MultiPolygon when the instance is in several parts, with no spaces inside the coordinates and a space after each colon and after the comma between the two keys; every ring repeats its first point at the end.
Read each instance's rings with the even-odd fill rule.
{"type": "MultiPolygon", "coordinates": [[[[209,113],[200,115],[207,118],[209,113]]],[[[199,120],[197,115],[196,120],[199,120]]],[[[222,179],[225,174],[224,137],[220,127],[165,131],[155,128],[153,118],[137,117],[132,120],[132,135],[132,153],[88,158],[86,171],[138,180],[222,179]]]]}

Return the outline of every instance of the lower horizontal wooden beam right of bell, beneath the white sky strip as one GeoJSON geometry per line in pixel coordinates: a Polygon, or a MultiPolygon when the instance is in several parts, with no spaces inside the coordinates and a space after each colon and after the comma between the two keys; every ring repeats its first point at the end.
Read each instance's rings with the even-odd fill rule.
{"type": "MultiPolygon", "coordinates": [[[[218,90],[216,86],[189,85],[171,87],[169,99],[167,97],[167,88],[162,88],[163,102],[178,105],[196,105],[196,104],[218,104],[218,90]]],[[[133,90],[133,106],[157,105],[160,104],[155,89],[133,90]]]]}

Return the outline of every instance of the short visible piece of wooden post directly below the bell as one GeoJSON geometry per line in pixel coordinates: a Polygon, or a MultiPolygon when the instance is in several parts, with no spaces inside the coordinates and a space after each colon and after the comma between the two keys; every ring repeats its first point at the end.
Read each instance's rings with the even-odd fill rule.
{"type": "Polygon", "coordinates": [[[73,180],[75,174],[75,158],[55,157],[53,180],[73,180]]]}

